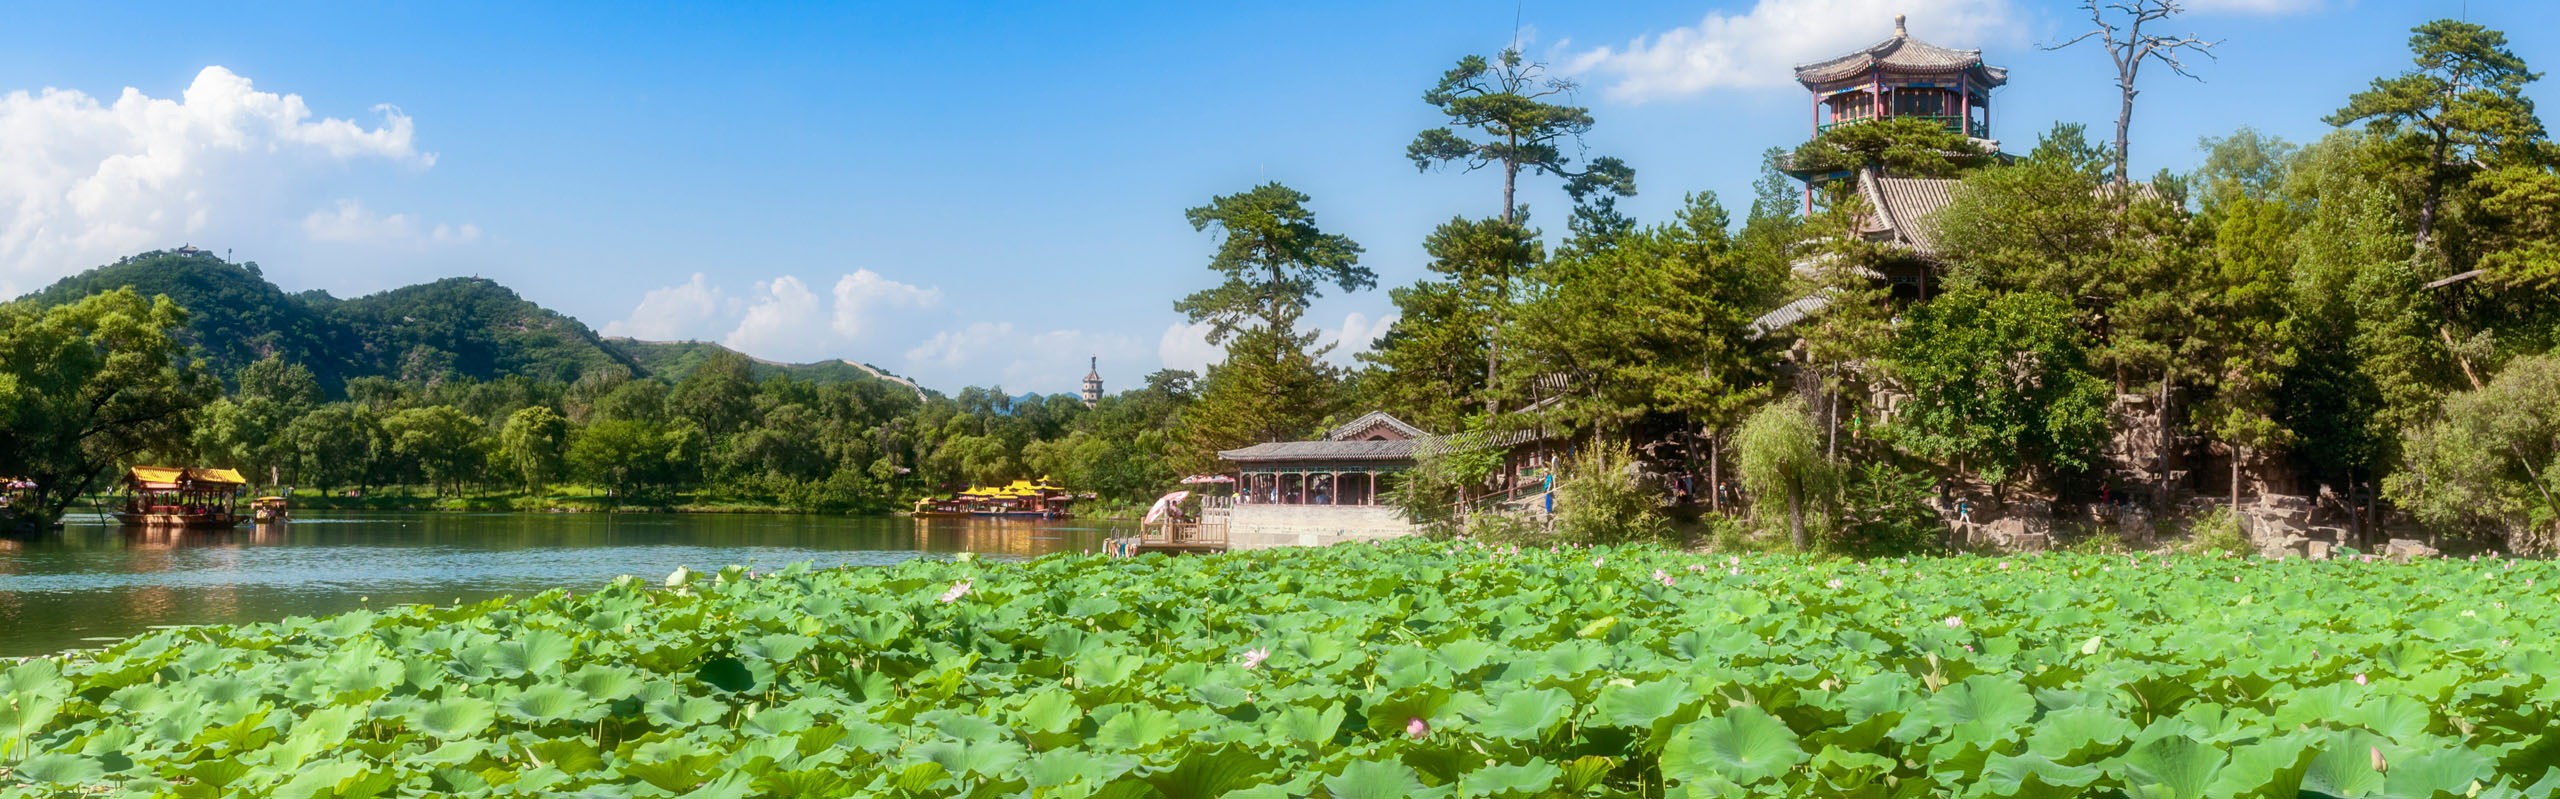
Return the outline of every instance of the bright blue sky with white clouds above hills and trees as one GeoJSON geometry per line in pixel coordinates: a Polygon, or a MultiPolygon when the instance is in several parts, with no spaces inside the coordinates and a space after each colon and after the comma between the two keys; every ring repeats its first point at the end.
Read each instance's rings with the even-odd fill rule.
{"type": "MultiPolygon", "coordinates": [[[[2204,82],[2143,79],[2138,172],[2237,125],[2307,141],[2442,15],[2560,64],[2542,3],[2194,0],[2204,82]]],[[[2104,136],[2112,69],[2043,51],[2048,0],[1731,3],[251,3],[18,8],[0,26],[0,297],[197,243],[340,297],[499,279],[607,333],[855,359],[929,387],[1070,392],[1213,356],[1172,312],[1211,238],[1183,210],[1277,179],[1367,246],[1377,292],[1308,315],[1336,356],[1423,277],[1421,238],[1498,213],[1492,174],[1418,174],[1418,100],[1513,41],[1582,82],[1626,207],[1748,205],[1805,138],[1789,67],[1892,31],[2010,67],[1994,133],[2104,136]],[[1516,26],[1518,20],[1518,26],[1516,26]]],[[[2550,95],[2547,85],[2534,87],[2550,95]]],[[[1551,182],[1523,192],[1562,233],[1551,182]]]]}

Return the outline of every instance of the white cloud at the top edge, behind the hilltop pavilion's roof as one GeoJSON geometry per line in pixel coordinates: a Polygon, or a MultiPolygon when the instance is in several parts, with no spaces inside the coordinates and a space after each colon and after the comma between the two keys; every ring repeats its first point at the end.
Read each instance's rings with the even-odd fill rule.
{"type": "Polygon", "coordinates": [[[1600,77],[1608,97],[1623,102],[1792,87],[1797,64],[1892,36],[1897,13],[1910,18],[1912,38],[1953,49],[2012,44],[2022,20],[2010,0],[1759,0],[1743,13],[1710,10],[1687,28],[1569,54],[1562,72],[1600,77]]]}

